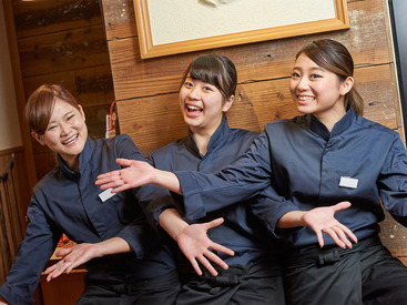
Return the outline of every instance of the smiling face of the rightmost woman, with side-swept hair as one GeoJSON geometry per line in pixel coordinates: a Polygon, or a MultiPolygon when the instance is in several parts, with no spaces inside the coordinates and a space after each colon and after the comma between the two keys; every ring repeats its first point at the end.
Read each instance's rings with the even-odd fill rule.
{"type": "Polygon", "coordinates": [[[345,94],[352,89],[353,79],[339,81],[305,54],[301,54],[293,69],[289,91],[298,111],[314,114],[329,130],[345,115],[345,94]]]}

